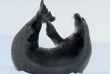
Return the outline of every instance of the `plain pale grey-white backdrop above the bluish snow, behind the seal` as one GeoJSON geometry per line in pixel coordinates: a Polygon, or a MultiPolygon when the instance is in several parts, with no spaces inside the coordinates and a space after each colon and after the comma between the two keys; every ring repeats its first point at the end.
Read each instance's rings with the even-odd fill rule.
{"type": "MultiPolygon", "coordinates": [[[[53,22],[62,37],[74,31],[73,15],[84,17],[92,42],[110,43],[110,0],[44,0],[56,16],[53,22]]],[[[39,9],[40,0],[0,0],[0,34],[15,36],[39,9]]],[[[45,24],[41,37],[46,38],[45,24]]]]}

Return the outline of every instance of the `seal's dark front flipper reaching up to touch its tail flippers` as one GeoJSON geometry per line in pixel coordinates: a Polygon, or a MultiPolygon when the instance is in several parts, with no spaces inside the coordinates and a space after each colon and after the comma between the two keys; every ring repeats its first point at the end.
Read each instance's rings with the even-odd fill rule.
{"type": "Polygon", "coordinates": [[[47,24],[47,27],[46,27],[47,36],[51,38],[54,44],[58,45],[61,42],[63,42],[64,39],[57,33],[54,26],[50,22],[47,22],[46,24],[47,24]]]}

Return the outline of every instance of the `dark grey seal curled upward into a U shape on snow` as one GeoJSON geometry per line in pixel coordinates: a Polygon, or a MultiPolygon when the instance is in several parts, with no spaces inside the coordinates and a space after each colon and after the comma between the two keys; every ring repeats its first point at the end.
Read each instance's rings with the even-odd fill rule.
{"type": "Polygon", "coordinates": [[[51,24],[55,17],[41,2],[37,15],[15,36],[12,43],[12,60],[17,70],[31,74],[82,73],[91,56],[91,41],[88,26],[78,13],[74,15],[75,32],[63,39],[51,24]],[[54,48],[39,47],[39,33],[46,23],[47,35],[54,48]]]}

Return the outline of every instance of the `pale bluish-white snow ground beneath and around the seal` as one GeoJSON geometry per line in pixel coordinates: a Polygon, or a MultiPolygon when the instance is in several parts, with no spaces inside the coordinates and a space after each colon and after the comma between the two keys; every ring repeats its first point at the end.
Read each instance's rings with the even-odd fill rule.
{"type": "MultiPolygon", "coordinates": [[[[13,66],[11,61],[12,39],[12,37],[0,35],[0,74],[27,74],[23,71],[16,71],[13,66]]],[[[50,47],[50,44],[53,47],[50,40],[40,40],[41,46],[50,47]],[[45,44],[48,45],[45,46],[45,44]]],[[[92,57],[84,74],[110,74],[110,44],[92,43],[92,49],[92,57]]]]}

